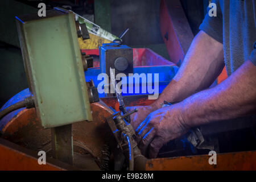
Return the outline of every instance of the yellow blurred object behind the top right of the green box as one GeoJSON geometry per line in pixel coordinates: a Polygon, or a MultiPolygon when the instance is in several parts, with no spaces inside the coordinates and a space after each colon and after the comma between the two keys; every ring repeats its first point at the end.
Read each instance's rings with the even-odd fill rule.
{"type": "Polygon", "coordinates": [[[102,44],[112,43],[110,40],[101,38],[97,35],[90,34],[90,39],[82,40],[79,39],[79,47],[80,49],[98,49],[98,47],[102,46],[102,44]]]}

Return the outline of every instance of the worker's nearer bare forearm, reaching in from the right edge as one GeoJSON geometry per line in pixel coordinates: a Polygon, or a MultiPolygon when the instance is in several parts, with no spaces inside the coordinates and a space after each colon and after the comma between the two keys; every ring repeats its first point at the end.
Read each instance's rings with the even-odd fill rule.
{"type": "Polygon", "coordinates": [[[188,127],[256,113],[256,67],[248,60],[220,85],[179,104],[188,127]]]}

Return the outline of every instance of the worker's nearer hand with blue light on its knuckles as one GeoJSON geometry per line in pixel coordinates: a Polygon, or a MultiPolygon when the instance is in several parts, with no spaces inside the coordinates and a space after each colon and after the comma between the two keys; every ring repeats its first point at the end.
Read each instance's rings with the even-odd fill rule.
{"type": "Polygon", "coordinates": [[[139,125],[137,142],[143,155],[156,158],[163,144],[187,133],[189,127],[182,116],[182,105],[155,110],[139,125]]]}

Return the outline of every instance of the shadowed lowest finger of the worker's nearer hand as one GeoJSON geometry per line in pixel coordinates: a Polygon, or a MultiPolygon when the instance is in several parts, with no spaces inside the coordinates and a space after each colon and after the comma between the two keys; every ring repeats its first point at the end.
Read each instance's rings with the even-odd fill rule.
{"type": "Polygon", "coordinates": [[[165,143],[165,141],[164,141],[163,137],[159,137],[159,136],[155,137],[149,145],[148,157],[156,158],[160,148],[163,146],[164,143],[165,143]]]}

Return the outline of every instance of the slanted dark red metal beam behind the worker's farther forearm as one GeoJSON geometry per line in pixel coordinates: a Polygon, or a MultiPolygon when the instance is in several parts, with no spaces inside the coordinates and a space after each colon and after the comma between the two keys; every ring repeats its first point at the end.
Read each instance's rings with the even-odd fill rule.
{"type": "Polygon", "coordinates": [[[171,61],[183,61],[194,36],[179,0],[161,1],[160,30],[171,61]]]}

